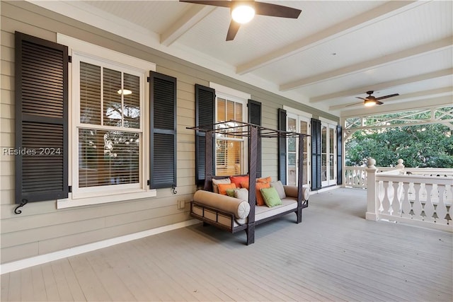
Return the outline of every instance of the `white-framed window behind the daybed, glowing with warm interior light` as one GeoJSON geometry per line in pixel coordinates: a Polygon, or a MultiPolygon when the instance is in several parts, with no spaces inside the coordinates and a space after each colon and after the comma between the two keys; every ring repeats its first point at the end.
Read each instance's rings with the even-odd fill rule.
{"type": "MultiPolygon", "coordinates": [[[[215,122],[235,120],[246,122],[247,93],[210,83],[216,91],[215,122]]],[[[240,175],[246,173],[247,140],[237,135],[216,134],[215,137],[215,175],[240,175]]]]}

